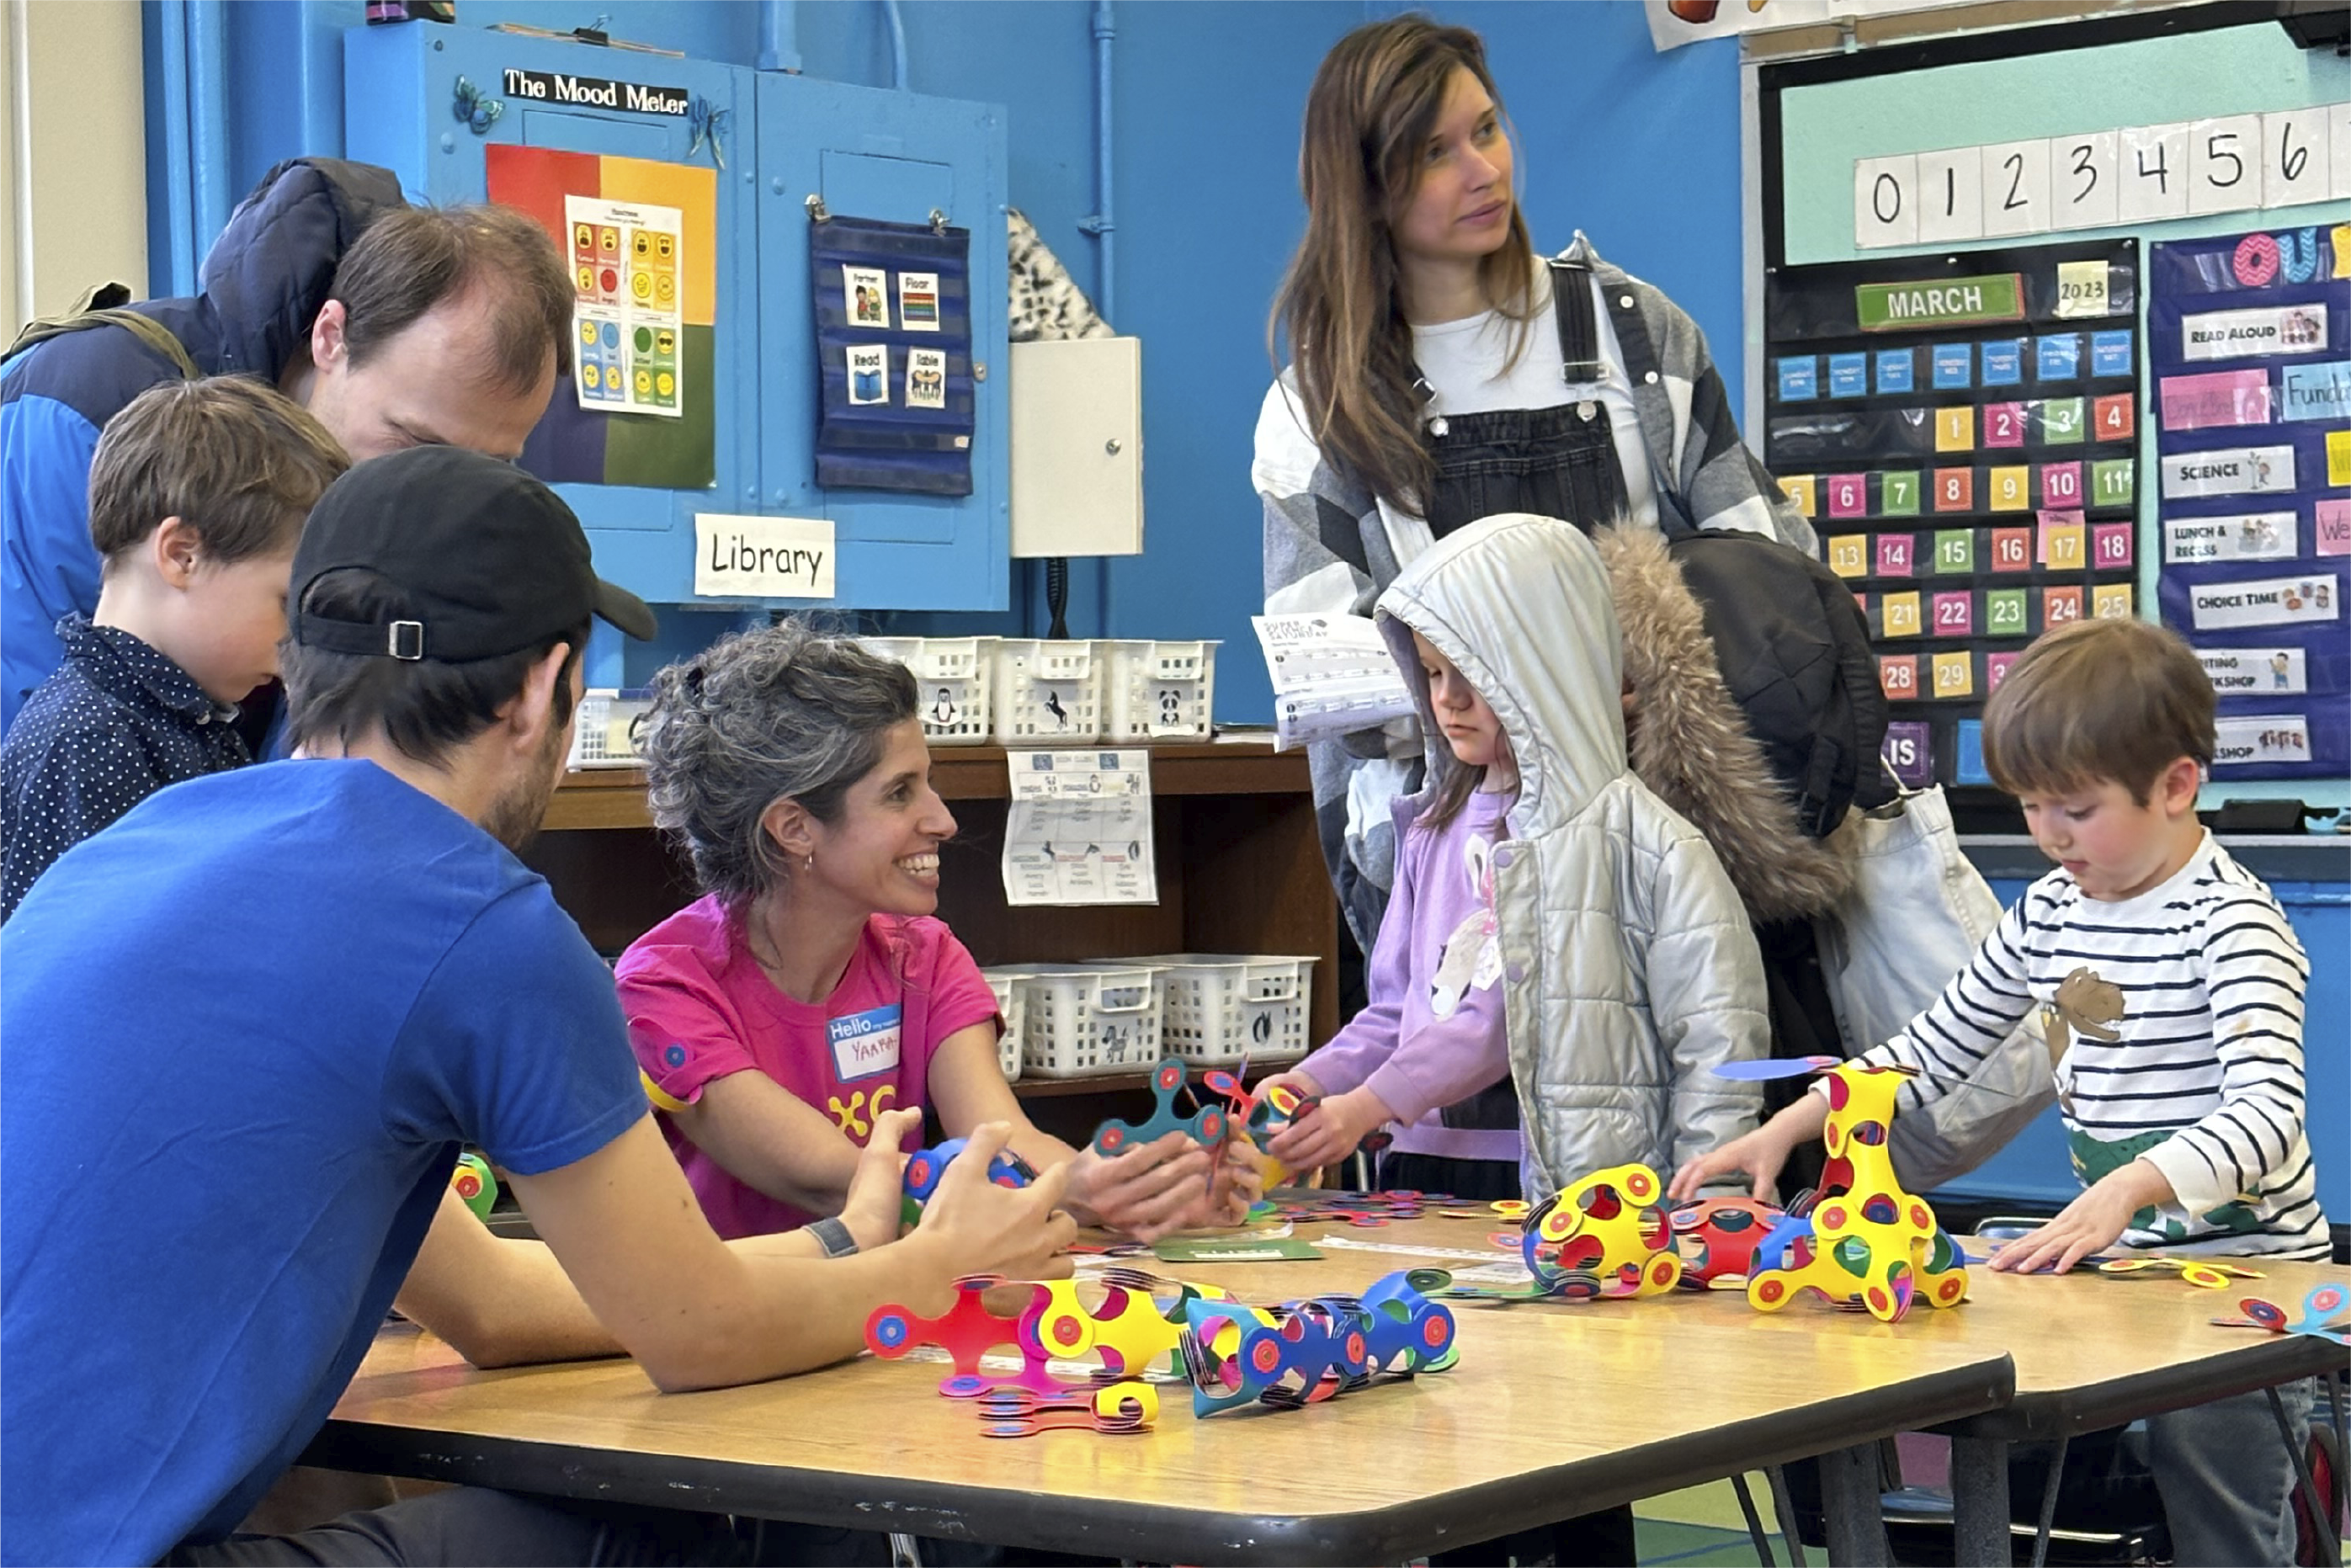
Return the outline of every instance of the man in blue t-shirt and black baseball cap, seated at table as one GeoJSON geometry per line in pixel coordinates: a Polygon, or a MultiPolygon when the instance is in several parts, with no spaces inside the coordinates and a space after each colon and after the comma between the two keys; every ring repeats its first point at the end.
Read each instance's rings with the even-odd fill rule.
{"type": "Polygon", "coordinates": [[[896,1135],[828,1227],[701,1220],[611,973],[513,856],[562,778],[590,616],[654,632],[529,475],[451,447],[360,463],[294,559],[296,759],[148,797],[0,929],[0,1563],[734,1563],[724,1521],[491,1493],[221,1537],[395,1293],[480,1363],[625,1349],[682,1389],[853,1354],[879,1302],[945,1309],[962,1274],[1056,1267],[1060,1182],[992,1187],[987,1159],[893,1241],[896,1135]],[[449,1194],[463,1143],[545,1246],[449,1194]]]}

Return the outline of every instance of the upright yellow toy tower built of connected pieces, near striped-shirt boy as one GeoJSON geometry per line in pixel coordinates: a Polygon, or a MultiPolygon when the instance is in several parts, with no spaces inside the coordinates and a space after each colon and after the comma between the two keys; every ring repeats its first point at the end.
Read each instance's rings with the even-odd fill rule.
{"type": "Polygon", "coordinates": [[[1909,1077],[1864,1063],[1829,1072],[1829,1164],[1813,1204],[1813,1234],[1796,1244],[1791,1267],[1756,1269],[1747,1281],[1747,1302],[1759,1312],[1777,1312],[1801,1291],[1817,1291],[1895,1324],[1918,1293],[1930,1307],[1965,1300],[1968,1269],[1958,1248],[1935,1225],[1935,1211],[1902,1190],[1886,1152],[1895,1095],[1909,1077]]]}

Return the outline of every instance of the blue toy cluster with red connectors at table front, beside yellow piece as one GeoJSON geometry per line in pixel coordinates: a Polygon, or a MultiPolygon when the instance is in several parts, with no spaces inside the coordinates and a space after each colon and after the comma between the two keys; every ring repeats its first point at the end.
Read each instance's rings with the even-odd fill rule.
{"type": "Polygon", "coordinates": [[[1451,1274],[1411,1269],[1364,1295],[1321,1295],[1279,1307],[1190,1300],[1183,1335],[1192,1413],[1246,1403],[1300,1408],[1361,1387],[1373,1373],[1453,1366],[1453,1314],[1427,1300],[1451,1274]]]}

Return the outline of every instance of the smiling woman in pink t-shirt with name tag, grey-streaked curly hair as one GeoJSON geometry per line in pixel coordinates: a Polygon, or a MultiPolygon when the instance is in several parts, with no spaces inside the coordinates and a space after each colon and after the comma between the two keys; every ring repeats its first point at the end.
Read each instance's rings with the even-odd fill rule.
{"type": "Polygon", "coordinates": [[[1103,1159],[1037,1131],[997,1065],[997,999],[938,919],[915,677],[797,623],[726,637],[654,677],[654,820],[703,898],[623,954],[621,1006],[661,1126],[722,1237],[839,1213],[875,1114],[929,1107],[950,1138],[1006,1121],[1070,1164],[1084,1222],[1143,1237],[1232,1218],[1232,1175],[1183,1133],[1103,1159]]]}

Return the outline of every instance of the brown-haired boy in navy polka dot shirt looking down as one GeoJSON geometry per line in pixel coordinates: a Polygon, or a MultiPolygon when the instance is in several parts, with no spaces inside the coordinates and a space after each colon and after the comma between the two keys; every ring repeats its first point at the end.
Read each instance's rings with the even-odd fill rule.
{"type": "Polygon", "coordinates": [[[294,541],[343,449],[259,381],[167,381],[89,465],[94,616],[0,743],[0,922],[52,860],[141,799],[252,762],[235,703],[277,672],[294,541]]]}

